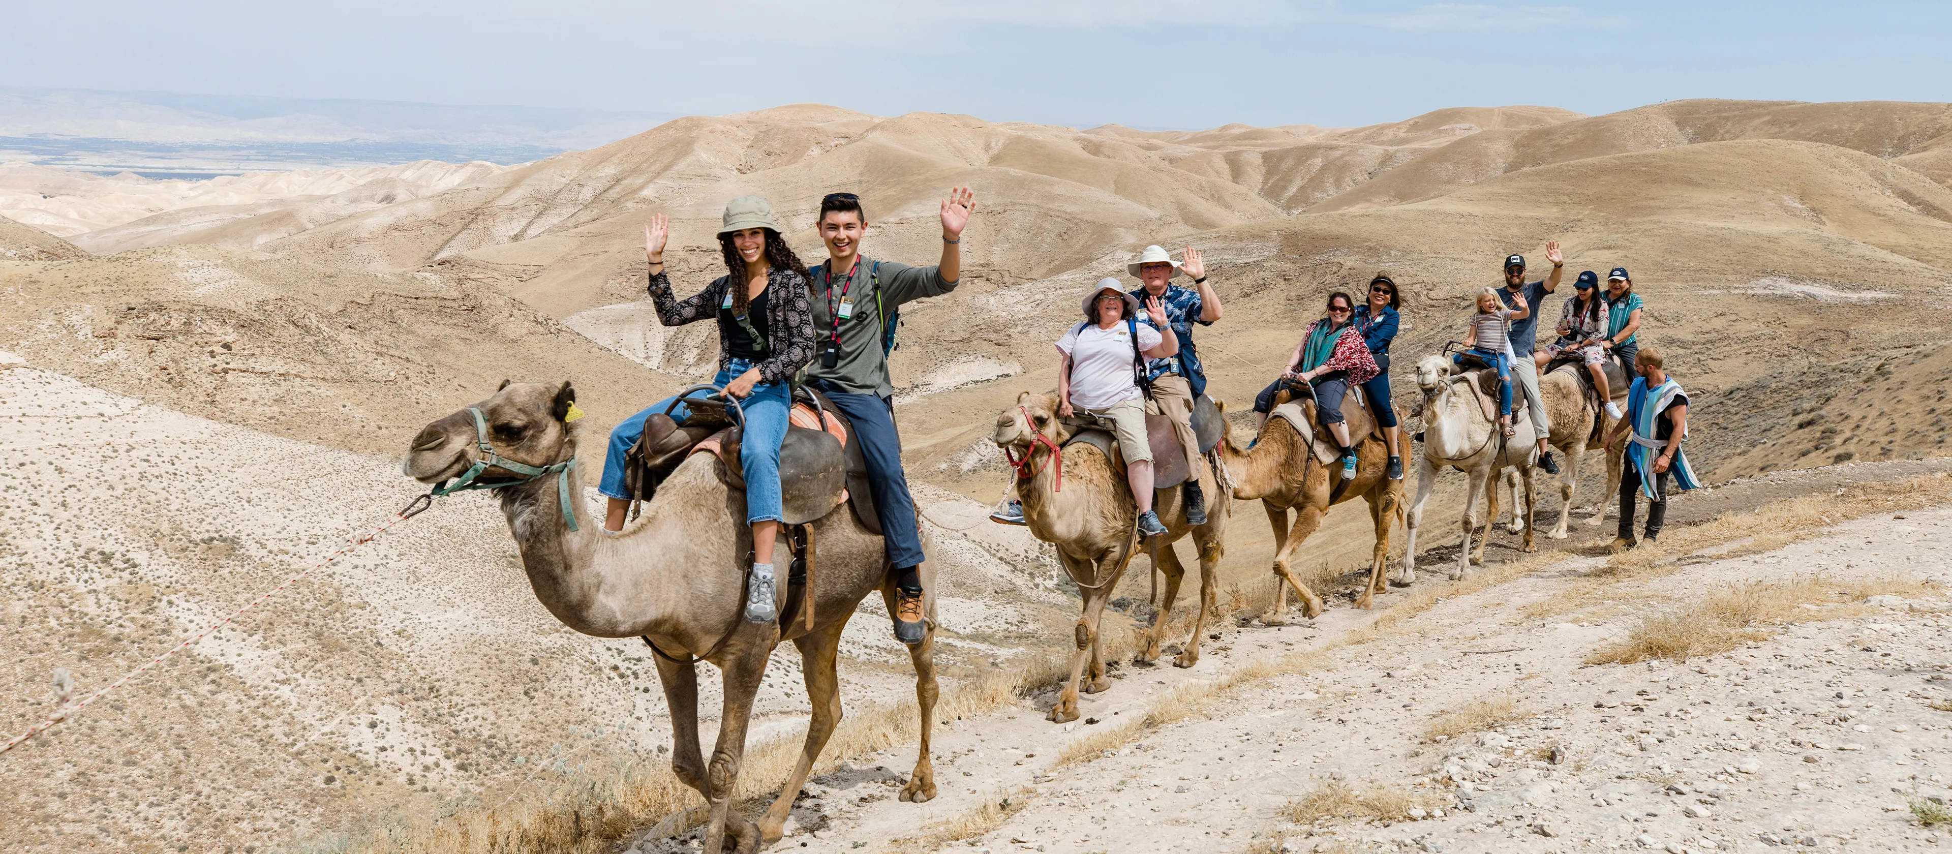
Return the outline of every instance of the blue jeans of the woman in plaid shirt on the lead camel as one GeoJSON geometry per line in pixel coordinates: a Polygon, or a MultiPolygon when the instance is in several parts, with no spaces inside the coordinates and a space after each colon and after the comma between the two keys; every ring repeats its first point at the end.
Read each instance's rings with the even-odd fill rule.
{"type": "MultiPolygon", "coordinates": [[[[720,370],[712,378],[724,388],[734,378],[752,369],[746,359],[732,359],[730,370],[720,370]]],[[[693,392],[705,398],[711,392],[693,392]]],[[[677,398],[664,398],[648,409],[623,419],[611,429],[609,452],[603,454],[603,480],[597,491],[613,499],[629,499],[623,491],[623,454],[644,437],[644,419],[664,411],[677,398]]],[[[752,386],[752,394],[740,400],[746,411],[746,431],[740,437],[738,462],[746,470],[746,524],[781,521],[779,491],[779,443],[787,441],[787,411],[793,408],[793,390],[785,382],[761,382],[752,386]]],[[[691,415],[683,404],[671,408],[671,417],[683,421],[691,415]]]]}

